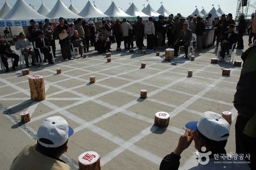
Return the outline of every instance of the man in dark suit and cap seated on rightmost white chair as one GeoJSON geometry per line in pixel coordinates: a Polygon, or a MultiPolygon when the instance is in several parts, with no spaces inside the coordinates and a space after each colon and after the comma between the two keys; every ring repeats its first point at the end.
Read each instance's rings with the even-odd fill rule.
{"type": "MultiPolygon", "coordinates": [[[[232,48],[232,45],[235,44],[238,41],[238,34],[234,32],[234,24],[230,24],[227,28],[229,31],[225,32],[221,41],[221,52],[220,52],[220,58],[219,62],[225,61],[225,53],[227,53],[227,57],[231,57],[229,53],[229,49],[232,48]]],[[[232,49],[234,50],[234,48],[232,49]]]]}

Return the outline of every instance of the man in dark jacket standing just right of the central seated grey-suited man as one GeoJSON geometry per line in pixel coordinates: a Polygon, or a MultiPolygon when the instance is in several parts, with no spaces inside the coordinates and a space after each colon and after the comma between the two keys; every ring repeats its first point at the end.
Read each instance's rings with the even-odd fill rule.
{"type": "Polygon", "coordinates": [[[196,16],[197,23],[196,23],[196,41],[197,41],[197,48],[196,52],[202,51],[202,43],[203,43],[203,35],[205,35],[205,26],[204,22],[201,21],[201,16],[196,16]]]}

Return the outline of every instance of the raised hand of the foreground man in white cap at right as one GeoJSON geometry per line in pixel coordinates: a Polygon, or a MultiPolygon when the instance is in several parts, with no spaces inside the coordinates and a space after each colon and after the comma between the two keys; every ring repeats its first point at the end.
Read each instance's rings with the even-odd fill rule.
{"type": "Polygon", "coordinates": [[[181,153],[190,146],[192,140],[193,140],[193,135],[195,131],[192,131],[190,129],[186,129],[185,133],[179,137],[179,143],[177,148],[174,151],[175,155],[180,156],[181,153]]]}

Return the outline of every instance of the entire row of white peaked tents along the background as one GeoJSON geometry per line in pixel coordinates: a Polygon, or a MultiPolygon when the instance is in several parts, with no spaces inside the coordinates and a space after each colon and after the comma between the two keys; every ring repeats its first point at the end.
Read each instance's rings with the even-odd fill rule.
{"type": "MultiPolygon", "coordinates": [[[[212,18],[216,16],[221,16],[224,12],[219,8],[215,10],[213,7],[210,12],[206,12],[204,9],[200,12],[197,8],[192,13],[193,15],[199,14],[203,17],[206,17],[209,13],[212,14],[212,18]]],[[[166,8],[161,5],[159,10],[155,11],[149,4],[144,7],[142,11],[132,3],[130,7],[123,12],[114,1],[111,3],[110,7],[104,13],[101,12],[96,5],[93,5],[90,1],[87,2],[85,7],[81,12],[79,12],[72,4],[67,8],[61,0],[57,0],[55,6],[50,11],[44,4],[40,6],[38,11],[34,11],[24,0],[17,0],[14,7],[11,8],[7,2],[4,3],[3,7],[0,10],[0,20],[30,20],[31,17],[35,20],[42,20],[45,18],[57,19],[59,17],[63,18],[99,18],[99,17],[134,17],[134,16],[158,16],[164,15],[169,16],[171,12],[168,12],[166,8]]]]}

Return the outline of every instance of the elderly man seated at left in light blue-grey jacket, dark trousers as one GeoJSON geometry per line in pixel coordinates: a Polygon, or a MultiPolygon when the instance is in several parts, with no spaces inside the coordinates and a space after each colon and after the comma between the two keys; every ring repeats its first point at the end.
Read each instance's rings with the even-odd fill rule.
{"type": "Polygon", "coordinates": [[[37,54],[31,51],[31,49],[33,48],[32,45],[30,44],[29,40],[26,38],[26,35],[23,32],[19,33],[19,36],[21,37],[21,39],[16,42],[15,49],[21,50],[21,53],[25,59],[26,67],[29,67],[29,55],[32,56],[31,65],[36,65],[35,63],[37,54]]]}

